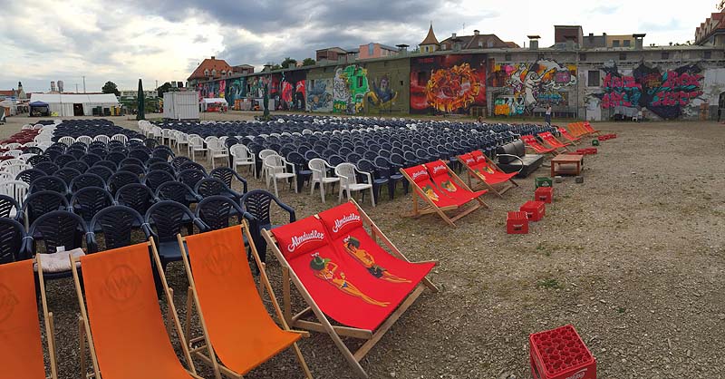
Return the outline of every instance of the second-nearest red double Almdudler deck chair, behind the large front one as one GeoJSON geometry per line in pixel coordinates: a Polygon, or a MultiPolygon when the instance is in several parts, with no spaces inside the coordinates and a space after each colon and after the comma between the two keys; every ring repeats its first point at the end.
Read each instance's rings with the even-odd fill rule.
{"type": "Polygon", "coordinates": [[[479,203],[475,203],[472,207],[465,207],[467,203],[473,199],[451,198],[445,195],[432,180],[428,169],[423,165],[413,166],[408,169],[401,169],[402,175],[411,182],[413,188],[413,210],[411,217],[420,217],[430,213],[436,213],[441,219],[446,221],[450,226],[456,227],[456,221],[470,212],[480,208],[479,203]],[[422,199],[427,206],[419,209],[418,198],[422,199]],[[455,210],[458,211],[453,217],[449,217],[445,212],[455,210]]]}

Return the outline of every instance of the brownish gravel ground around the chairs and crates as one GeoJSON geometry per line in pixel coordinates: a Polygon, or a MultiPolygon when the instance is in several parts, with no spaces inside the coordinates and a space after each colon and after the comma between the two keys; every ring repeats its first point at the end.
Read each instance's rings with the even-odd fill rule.
{"type": "MultiPolygon", "coordinates": [[[[26,121],[9,119],[0,137],[26,121]]],[[[518,180],[521,186],[504,199],[487,197],[490,209],[460,219],[455,229],[432,215],[404,218],[410,194],[399,192],[374,209],[366,199],[363,207],[411,260],[440,261],[430,276],[440,293],[424,292],[363,359],[372,378],[529,377],[528,335],[565,324],[576,327],[596,357],[599,378],[725,376],[725,259],[723,238],[713,232],[725,215],[725,127],[595,127],[619,138],[586,157],[584,184],[573,178],[555,184],[554,203],[528,235],[506,234],[506,212],[532,199],[533,178],[547,175],[546,168],[518,180]]],[[[263,186],[250,180],[250,188],[263,186]]],[[[298,218],[336,204],[333,195],[322,204],[308,191],[280,190],[298,218]]],[[[267,270],[281,296],[274,258],[267,270]]],[[[183,321],[187,280],[180,263],[168,271],[183,321]]],[[[78,377],[73,282],[55,280],[47,292],[60,377],[78,377]]],[[[300,299],[295,302],[299,309],[300,299]]],[[[315,377],[353,377],[327,335],[314,334],[300,347],[315,377]]],[[[199,374],[213,377],[195,364],[199,374]]],[[[301,377],[296,370],[294,355],[285,352],[247,377],[301,377]]]]}

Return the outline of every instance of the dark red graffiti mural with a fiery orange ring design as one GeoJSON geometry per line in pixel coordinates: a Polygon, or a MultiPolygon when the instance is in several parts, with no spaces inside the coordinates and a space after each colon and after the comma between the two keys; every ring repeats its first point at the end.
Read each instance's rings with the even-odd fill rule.
{"type": "Polygon", "coordinates": [[[485,55],[411,59],[411,113],[467,113],[472,106],[486,106],[485,55]]]}

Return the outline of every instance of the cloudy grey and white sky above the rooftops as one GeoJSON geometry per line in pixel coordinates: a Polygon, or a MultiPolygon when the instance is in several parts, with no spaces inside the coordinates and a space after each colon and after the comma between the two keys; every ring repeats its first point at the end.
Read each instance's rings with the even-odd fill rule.
{"type": "Polygon", "coordinates": [[[498,34],[527,43],[527,34],[554,41],[554,24],[581,24],[584,33],[646,33],[645,44],[684,43],[715,12],[716,0],[0,0],[3,25],[0,89],[22,81],[25,91],[98,92],[155,81],[186,81],[210,55],[258,68],[314,57],[329,46],[370,42],[410,44],[432,21],[439,40],[451,33],[498,34]]]}

